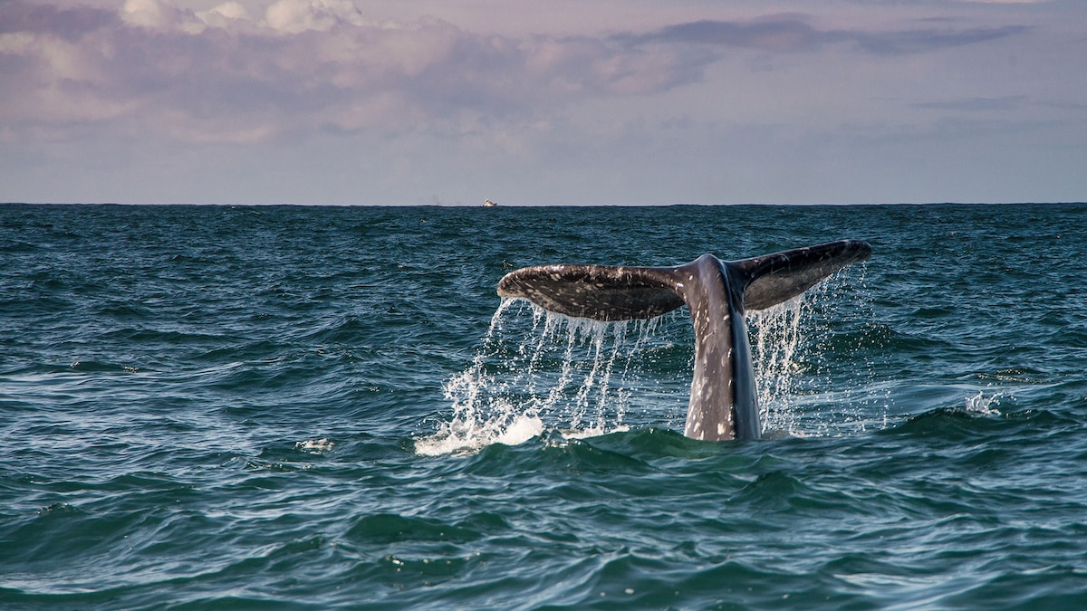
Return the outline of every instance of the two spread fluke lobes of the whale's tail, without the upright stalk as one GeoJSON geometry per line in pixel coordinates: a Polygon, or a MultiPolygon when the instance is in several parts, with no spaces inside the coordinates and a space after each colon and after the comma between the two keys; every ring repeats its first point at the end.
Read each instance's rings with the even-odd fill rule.
{"type": "MultiPolygon", "coordinates": [[[[872,247],[840,240],[742,259],[721,261],[742,309],[763,310],[800,295],[838,270],[864,261],[872,247]]],[[[597,321],[652,319],[688,301],[688,285],[705,254],[674,267],[537,265],[507,274],[502,297],[527,299],[545,310],[597,321]]],[[[688,303],[689,304],[689,303],[688,303]]]]}

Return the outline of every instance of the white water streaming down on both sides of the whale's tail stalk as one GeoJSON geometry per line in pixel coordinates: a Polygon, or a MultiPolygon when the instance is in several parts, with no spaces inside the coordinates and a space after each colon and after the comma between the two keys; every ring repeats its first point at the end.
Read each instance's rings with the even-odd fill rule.
{"type": "MultiPolygon", "coordinates": [[[[824,290],[805,295],[817,300],[824,290]]],[[[811,326],[812,312],[799,296],[747,315],[760,416],[770,437],[825,433],[819,421],[826,414],[815,413],[814,424],[809,422],[811,406],[803,399],[826,397],[813,394],[811,376],[799,371],[810,348],[802,329],[811,326]]],[[[650,423],[682,428],[694,366],[691,334],[686,310],[603,323],[503,300],[472,364],[443,387],[452,417],[433,435],[415,438],[415,451],[473,452],[547,432],[583,438],[626,431],[632,407],[650,423]]]]}

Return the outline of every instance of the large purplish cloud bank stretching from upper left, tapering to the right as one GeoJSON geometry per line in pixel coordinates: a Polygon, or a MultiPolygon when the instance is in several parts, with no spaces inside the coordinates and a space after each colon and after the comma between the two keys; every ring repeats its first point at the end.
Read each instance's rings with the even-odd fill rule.
{"type": "Polygon", "coordinates": [[[1024,28],[821,29],[803,15],[698,21],[605,36],[484,35],[422,17],[375,22],[350,0],[164,0],[120,10],[0,2],[7,126],[110,125],[191,141],[398,130],[534,114],[697,83],[729,49],[922,53],[1024,28]]]}

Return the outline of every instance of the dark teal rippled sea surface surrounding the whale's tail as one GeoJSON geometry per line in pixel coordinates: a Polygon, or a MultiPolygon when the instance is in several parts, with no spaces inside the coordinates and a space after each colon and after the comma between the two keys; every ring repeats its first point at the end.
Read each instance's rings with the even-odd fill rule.
{"type": "Polygon", "coordinates": [[[1087,205],[0,205],[0,609],[1087,608],[1087,205]],[[873,255],[749,314],[545,263],[873,255]]]}

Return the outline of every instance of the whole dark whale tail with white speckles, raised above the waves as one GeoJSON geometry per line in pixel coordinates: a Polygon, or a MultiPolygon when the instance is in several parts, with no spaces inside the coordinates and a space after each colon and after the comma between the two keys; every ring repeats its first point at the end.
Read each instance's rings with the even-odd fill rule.
{"type": "Polygon", "coordinates": [[[762,425],[745,312],[796,297],[871,254],[865,241],[840,240],[739,261],[703,254],[674,267],[538,265],[507,274],[498,294],[597,321],[652,319],[686,304],[695,372],[684,434],[750,439],[762,425]]]}

